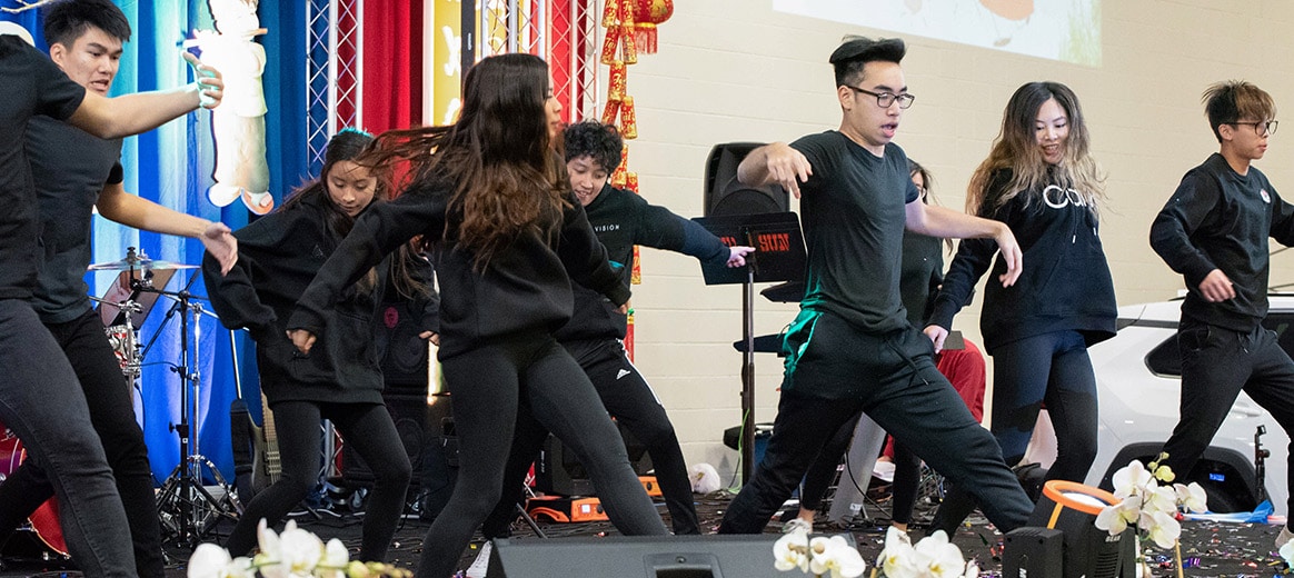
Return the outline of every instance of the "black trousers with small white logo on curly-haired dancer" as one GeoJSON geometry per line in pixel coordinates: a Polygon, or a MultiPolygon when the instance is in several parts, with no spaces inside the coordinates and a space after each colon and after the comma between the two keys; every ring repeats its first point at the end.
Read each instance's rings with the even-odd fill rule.
{"type": "MultiPolygon", "coordinates": [[[[647,447],[674,534],[700,534],[692,503],[692,482],[687,475],[683,450],[678,446],[678,434],[656,393],[629,361],[625,345],[616,339],[562,345],[589,375],[607,411],[647,447]]],[[[525,472],[549,436],[549,431],[529,414],[523,411],[518,416],[512,450],[503,471],[503,499],[481,526],[481,534],[488,539],[506,535],[507,526],[516,517],[514,504],[520,503],[525,472]]]]}

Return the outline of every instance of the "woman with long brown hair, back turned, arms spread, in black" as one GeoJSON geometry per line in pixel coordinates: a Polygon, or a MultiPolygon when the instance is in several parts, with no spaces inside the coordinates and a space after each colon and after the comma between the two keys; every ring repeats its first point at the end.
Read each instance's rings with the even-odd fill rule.
{"type": "Polygon", "coordinates": [[[468,70],[455,124],[379,136],[365,162],[409,160],[404,194],[356,222],[289,322],[300,350],[312,350],[316,336],[344,331],[329,319],[343,287],[414,235],[433,243],[439,357],[461,466],[449,503],[427,530],[417,575],[450,575],[502,498],[523,398],[589,469],[621,533],[666,533],[593,384],[553,337],[571,318],[572,279],[617,306],[629,299],[549,149],[559,111],[547,65],[503,54],[468,70]]]}

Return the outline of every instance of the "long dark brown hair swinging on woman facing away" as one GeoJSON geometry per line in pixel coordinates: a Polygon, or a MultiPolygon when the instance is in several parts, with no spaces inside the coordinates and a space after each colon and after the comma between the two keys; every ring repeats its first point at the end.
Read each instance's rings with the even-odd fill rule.
{"type": "Polygon", "coordinates": [[[488,57],[467,71],[458,122],[382,133],[364,162],[389,168],[408,160],[401,189],[453,184],[445,238],[472,250],[484,269],[523,234],[553,242],[571,206],[565,171],[549,149],[547,98],[542,58],[488,57]]]}

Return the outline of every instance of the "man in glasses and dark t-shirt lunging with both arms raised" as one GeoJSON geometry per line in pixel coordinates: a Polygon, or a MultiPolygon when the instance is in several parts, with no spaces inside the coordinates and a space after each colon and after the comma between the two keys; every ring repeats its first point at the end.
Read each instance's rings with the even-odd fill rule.
{"type": "Polygon", "coordinates": [[[787,331],[782,401],[752,480],[719,533],[753,534],[791,497],[837,428],[866,411],[955,484],[970,487],[1002,531],[1025,525],[1033,503],[987,429],[933,361],[930,340],[899,299],[903,229],[938,238],[992,238],[1016,281],[1021,252],[998,221],[921,203],[903,149],[890,142],[912,105],[899,39],[848,39],[831,56],[839,131],[751,151],[747,185],[776,182],[801,197],[809,266],[800,316],[787,331]]]}

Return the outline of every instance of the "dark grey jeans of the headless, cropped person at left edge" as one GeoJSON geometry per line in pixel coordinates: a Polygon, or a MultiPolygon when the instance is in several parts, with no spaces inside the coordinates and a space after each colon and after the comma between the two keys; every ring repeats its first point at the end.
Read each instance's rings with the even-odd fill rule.
{"type": "MultiPolygon", "coordinates": [[[[102,331],[98,337],[106,343],[102,331]]],[[[58,341],[23,300],[0,300],[0,422],[49,475],[72,560],[88,577],[136,575],[126,509],[85,393],[58,341]]],[[[148,513],[157,515],[153,504],[148,513]]]]}

